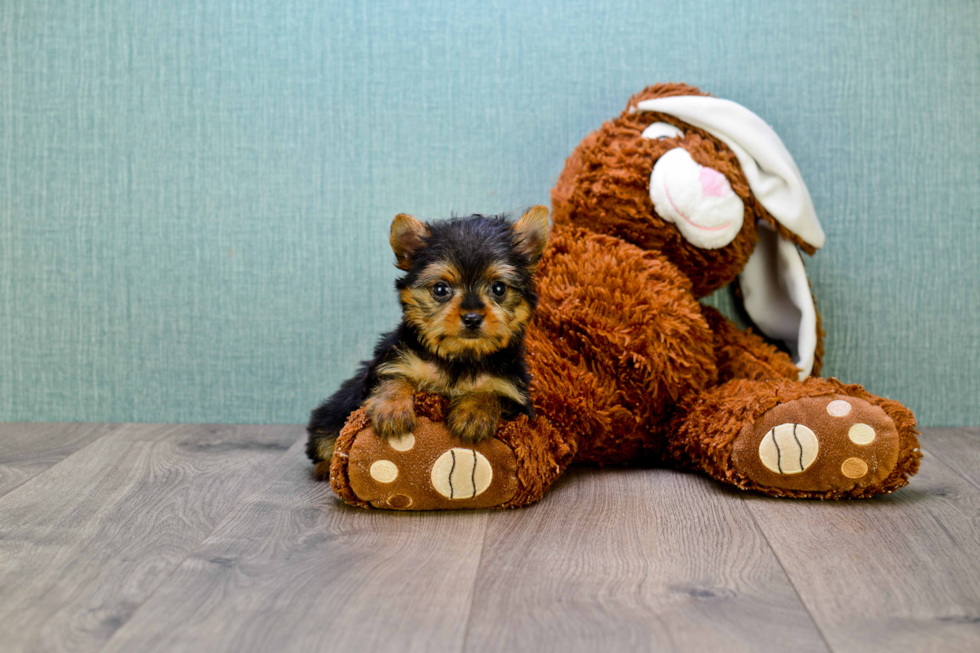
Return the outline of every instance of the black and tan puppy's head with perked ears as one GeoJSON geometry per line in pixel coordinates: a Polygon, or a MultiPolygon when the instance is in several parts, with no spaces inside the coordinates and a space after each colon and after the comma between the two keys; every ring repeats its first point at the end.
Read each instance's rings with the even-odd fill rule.
{"type": "Polygon", "coordinates": [[[406,323],[446,359],[474,360],[523,337],[537,303],[533,274],[548,242],[548,210],[514,224],[474,215],[423,223],[401,214],[391,225],[406,323]]]}

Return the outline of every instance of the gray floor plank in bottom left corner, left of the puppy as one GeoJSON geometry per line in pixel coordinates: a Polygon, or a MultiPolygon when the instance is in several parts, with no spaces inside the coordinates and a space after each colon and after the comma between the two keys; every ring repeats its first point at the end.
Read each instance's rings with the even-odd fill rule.
{"type": "Polygon", "coordinates": [[[0,498],[3,650],[99,650],[301,433],[127,425],[0,498]]]}

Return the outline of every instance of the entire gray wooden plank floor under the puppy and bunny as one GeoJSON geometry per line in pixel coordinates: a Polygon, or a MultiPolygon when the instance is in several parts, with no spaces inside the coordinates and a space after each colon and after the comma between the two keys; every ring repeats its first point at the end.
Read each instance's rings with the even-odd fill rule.
{"type": "Polygon", "coordinates": [[[669,470],[352,509],[298,426],[0,425],[0,650],[980,651],[980,429],[823,503],[669,470]]]}

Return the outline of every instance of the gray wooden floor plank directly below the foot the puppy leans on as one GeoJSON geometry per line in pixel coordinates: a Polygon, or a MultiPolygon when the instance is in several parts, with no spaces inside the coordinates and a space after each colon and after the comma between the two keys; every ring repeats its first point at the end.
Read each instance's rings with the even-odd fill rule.
{"type": "Polygon", "coordinates": [[[109,642],[122,651],[459,651],[487,513],[349,508],[297,444],[109,642]]]}

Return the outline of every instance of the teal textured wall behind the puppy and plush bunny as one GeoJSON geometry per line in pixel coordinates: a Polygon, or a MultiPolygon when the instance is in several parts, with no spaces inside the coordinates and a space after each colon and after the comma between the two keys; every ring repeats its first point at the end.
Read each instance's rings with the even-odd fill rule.
{"type": "Polygon", "coordinates": [[[782,136],[826,372],[980,424],[980,3],[5,0],[0,419],[302,422],[397,320],[387,227],[545,203],[686,81],[782,136]]]}

